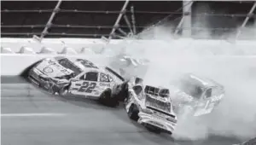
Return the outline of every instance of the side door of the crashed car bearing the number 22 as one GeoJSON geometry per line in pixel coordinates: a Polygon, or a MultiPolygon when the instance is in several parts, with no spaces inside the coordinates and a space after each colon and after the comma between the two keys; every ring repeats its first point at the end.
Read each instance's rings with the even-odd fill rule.
{"type": "Polygon", "coordinates": [[[72,81],[70,92],[80,96],[96,96],[96,86],[98,85],[97,72],[84,73],[82,76],[72,81]]]}

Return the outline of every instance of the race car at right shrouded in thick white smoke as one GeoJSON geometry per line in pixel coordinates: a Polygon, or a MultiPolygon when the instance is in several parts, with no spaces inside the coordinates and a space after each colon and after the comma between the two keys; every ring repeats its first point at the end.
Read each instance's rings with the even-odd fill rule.
{"type": "Polygon", "coordinates": [[[174,110],[185,116],[212,113],[224,97],[224,86],[192,73],[183,74],[172,81],[170,90],[174,110]]]}

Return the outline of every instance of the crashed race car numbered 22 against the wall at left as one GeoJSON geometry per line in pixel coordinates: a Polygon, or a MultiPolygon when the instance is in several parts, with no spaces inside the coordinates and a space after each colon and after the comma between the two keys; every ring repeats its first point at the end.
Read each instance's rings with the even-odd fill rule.
{"type": "Polygon", "coordinates": [[[88,60],[62,56],[39,61],[29,70],[28,78],[52,94],[84,96],[112,107],[119,104],[115,87],[124,81],[108,67],[103,69],[88,60]]]}

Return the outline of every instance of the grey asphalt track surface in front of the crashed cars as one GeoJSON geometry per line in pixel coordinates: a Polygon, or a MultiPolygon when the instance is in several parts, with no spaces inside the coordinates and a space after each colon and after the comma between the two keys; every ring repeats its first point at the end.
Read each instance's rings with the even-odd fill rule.
{"type": "Polygon", "coordinates": [[[1,80],[2,145],[231,145],[236,138],[175,140],[128,119],[122,105],[51,96],[19,78],[1,80]]]}

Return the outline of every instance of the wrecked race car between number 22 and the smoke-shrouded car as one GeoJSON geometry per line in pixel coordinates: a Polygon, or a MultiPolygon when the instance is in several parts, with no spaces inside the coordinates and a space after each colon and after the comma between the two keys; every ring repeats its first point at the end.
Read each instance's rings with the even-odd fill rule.
{"type": "Polygon", "coordinates": [[[151,131],[172,134],[177,116],[173,112],[168,89],[145,85],[143,79],[137,77],[120,84],[119,88],[127,90],[125,110],[130,119],[151,131]]]}

